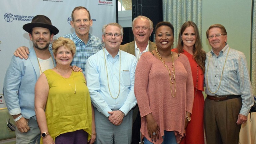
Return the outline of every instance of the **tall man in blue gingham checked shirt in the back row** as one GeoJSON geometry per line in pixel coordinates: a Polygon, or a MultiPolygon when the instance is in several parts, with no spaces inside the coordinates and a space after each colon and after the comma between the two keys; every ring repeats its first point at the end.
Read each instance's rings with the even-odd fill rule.
{"type": "MultiPolygon", "coordinates": [[[[75,43],[76,54],[71,65],[80,67],[85,74],[87,59],[102,49],[102,43],[98,37],[89,33],[92,19],[88,9],[82,6],[75,7],[71,13],[71,18],[70,24],[74,28],[74,32],[63,37],[69,38],[75,43]]],[[[52,45],[49,48],[51,51],[52,45]]],[[[29,53],[28,48],[23,46],[19,47],[14,55],[27,59],[29,53]]]]}

